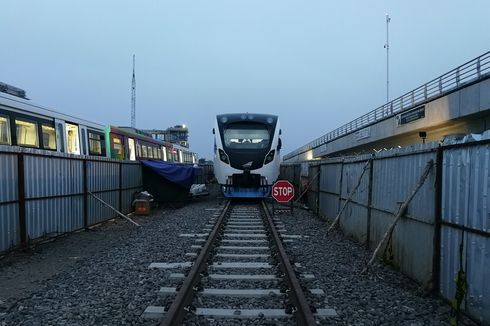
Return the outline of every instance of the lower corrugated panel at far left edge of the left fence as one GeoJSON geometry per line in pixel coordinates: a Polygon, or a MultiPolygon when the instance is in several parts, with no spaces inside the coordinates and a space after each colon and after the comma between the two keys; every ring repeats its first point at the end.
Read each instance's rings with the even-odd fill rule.
{"type": "Polygon", "coordinates": [[[0,205],[0,252],[19,244],[19,204],[0,205]]]}

